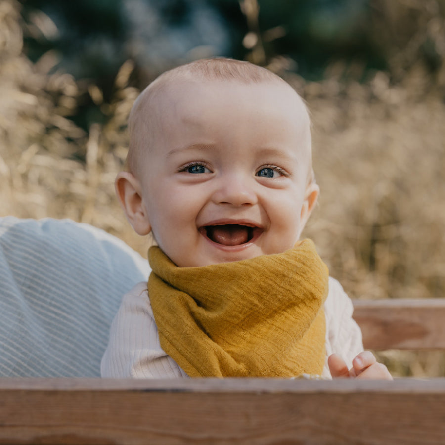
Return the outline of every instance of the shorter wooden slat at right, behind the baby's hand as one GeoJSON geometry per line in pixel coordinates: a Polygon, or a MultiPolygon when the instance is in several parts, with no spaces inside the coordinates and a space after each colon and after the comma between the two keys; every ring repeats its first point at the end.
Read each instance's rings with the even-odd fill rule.
{"type": "Polygon", "coordinates": [[[353,303],[366,349],[445,349],[445,299],[353,303]]]}

